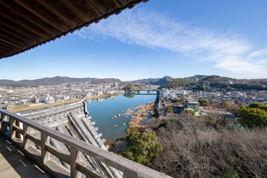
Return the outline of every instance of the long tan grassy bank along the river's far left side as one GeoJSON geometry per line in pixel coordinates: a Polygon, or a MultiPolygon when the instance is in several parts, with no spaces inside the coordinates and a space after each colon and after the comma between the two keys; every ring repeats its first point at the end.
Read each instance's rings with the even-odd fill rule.
{"type": "MultiPolygon", "coordinates": [[[[118,91],[117,93],[113,93],[112,96],[117,96],[120,94],[123,94],[124,91],[118,91]]],[[[106,98],[107,96],[110,95],[101,95],[101,96],[93,96],[93,97],[88,97],[86,99],[97,99],[97,98],[106,98]]],[[[10,112],[24,112],[24,111],[28,111],[28,110],[33,110],[33,109],[40,109],[40,108],[44,108],[44,107],[52,107],[52,106],[58,106],[58,105],[62,105],[62,104],[67,104],[67,103],[71,103],[71,102],[75,102],[80,100],[81,98],[75,98],[75,99],[71,99],[71,100],[67,100],[67,101],[62,101],[62,102],[58,102],[58,103],[51,103],[51,104],[42,104],[42,105],[38,105],[38,106],[21,106],[21,107],[16,107],[13,110],[10,110],[10,112]]]]}

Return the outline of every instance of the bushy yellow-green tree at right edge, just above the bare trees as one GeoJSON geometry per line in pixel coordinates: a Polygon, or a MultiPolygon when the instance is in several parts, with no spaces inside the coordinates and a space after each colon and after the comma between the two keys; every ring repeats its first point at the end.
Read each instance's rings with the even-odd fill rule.
{"type": "Polygon", "coordinates": [[[244,127],[255,128],[267,126],[267,112],[260,108],[245,108],[243,105],[240,105],[238,116],[240,117],[240,124],[244,127]]]}

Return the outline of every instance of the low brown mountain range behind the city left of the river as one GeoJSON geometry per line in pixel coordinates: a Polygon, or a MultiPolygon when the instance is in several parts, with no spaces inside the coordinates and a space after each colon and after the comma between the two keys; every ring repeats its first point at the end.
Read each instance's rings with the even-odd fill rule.
{"type": "Polygon", "coordinates": [[[71,82],[92,82],[92,84],[99,84],[99,83],[120,83],[122,82],[119,79],[115,78],[104,78],[104,79],[98,79],[98,78],[71,78],[71,77],[45,77],[42,79],[35,79],[35,80],[0,80],[0,83],[5,84],[16,84],[16,83],[28,83],[28,84],[54,84],[54,83],[71,83],[71,82]]]}

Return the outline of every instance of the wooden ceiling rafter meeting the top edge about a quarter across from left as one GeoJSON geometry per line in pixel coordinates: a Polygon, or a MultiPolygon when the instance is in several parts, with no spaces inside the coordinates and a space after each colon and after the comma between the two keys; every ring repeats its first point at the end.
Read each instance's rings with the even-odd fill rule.
{"type": "Polygon", "coordinates": [[[89,20],[90,15],[84,12],[76,1],[74,0],[61,0],[61,1],[84,22],[87,22],[89,20]]]}

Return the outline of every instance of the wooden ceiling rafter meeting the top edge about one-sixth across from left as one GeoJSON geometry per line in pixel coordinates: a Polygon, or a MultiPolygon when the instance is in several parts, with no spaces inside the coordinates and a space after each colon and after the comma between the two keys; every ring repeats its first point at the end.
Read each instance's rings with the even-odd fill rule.
{"type": "Polygon", "coordinates": [[[58,7],[53,1],[51,0],[37,0],[40,4],[42,4],[45,8],[53,12],[53,14],[57,15],[61,18],[66,24],[68,24],[71,28],[76,26],[74,20],[72,20],[60,7],[58,7]]]}

